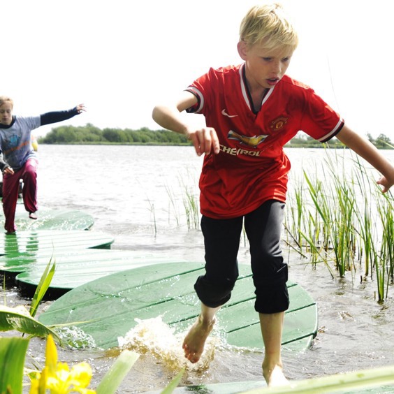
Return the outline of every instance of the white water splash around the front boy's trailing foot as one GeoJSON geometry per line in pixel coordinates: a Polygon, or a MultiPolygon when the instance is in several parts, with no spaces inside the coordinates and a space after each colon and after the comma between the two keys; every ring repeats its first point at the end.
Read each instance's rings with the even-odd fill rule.
{"type": "Polygon", "coordinates": [[[164,323],[161,316],[146,320],[136,319],[136,321],[137,326],[131,328],[124,337],[118,337],[119,347],[138,353],[152,353],[171,370],[185,367],[189,371],[201,372],[210,366],[219,338],[208,337],[203,355],[197,363],[193,364],[184,357],[182,349],[186,333],[175,334],[175,328],[170,328],[164,323]]]}

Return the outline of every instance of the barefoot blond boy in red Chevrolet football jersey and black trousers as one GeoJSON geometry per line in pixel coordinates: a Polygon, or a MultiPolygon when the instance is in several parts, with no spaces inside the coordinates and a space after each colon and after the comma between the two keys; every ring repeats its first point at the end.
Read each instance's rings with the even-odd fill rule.
{"type": "Polygon", "coordinates": [[[231,298],[244,225],[268,386],[286,384],[281,342],[289,294],[280,239],[290,163],[283,146],[298,131],[322,143],[335,136],[379,170],[383,192],[394,184],[394,167],[379,150],[344,124],[313,89],[285,75],[297,45],[281,6],[255,6],[240,26],[242,64],[211,68],[177,101],[157,105],[152,113],[160,126],[188,136],[196,153],[205,154],[199,184],[205,275],[194,285],[201,312],[184,339],[185,357],[199,360],[215,314],[231,298]],[[206,126],[187,124],[180,117],[184,110],[203,114],[206,126]]]}

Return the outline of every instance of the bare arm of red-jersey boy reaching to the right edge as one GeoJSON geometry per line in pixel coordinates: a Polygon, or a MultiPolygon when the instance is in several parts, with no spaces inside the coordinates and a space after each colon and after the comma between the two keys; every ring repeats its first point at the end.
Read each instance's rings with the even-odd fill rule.
{"type": "Polygon", "coordinates": [[[357,133],[349,129],[346,125],[337,133],[338,140],[340,140],[346,147],[356,152],[376,168],[383,177],[377,183],[383,186],[382,191],[386,193],[394,184],[394,166],[382,154],[379,149],[375,147],[370,141],[359,136],[357,133]]]}

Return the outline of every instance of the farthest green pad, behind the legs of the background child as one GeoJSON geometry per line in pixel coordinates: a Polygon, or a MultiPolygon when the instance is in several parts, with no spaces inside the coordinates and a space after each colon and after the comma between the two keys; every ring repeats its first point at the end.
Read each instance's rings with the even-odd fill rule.
{"type": "MultiPolygon", "coordinates": [[[[17,204],[15,225],[17,231],[27,230],[88,230],[94,224],[92,215],[78,210],[51,210],[41,208],[37,212],[38,219],[29,218],[29,213],[22,204],[17,204]]],[[[4,215],[0,212],[0,221],[4,215]]]]}

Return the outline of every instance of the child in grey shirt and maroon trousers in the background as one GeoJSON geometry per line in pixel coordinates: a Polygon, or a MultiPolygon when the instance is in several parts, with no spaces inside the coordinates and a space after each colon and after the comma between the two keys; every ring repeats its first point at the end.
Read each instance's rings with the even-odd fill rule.
{"type": "Polygon", "coordinates": [[[13,115],[13,100],[0,96],[0,170],[3,172],[3,211],[7,234],[15,233],[15,210],[20,180],[22,198],[30,219],[37,219],[38,159],[31,143],[31,131],[39,126],[61,122],[85,111],[79,104],[71,110],[47,112],[33,117],[13,115]]]}

